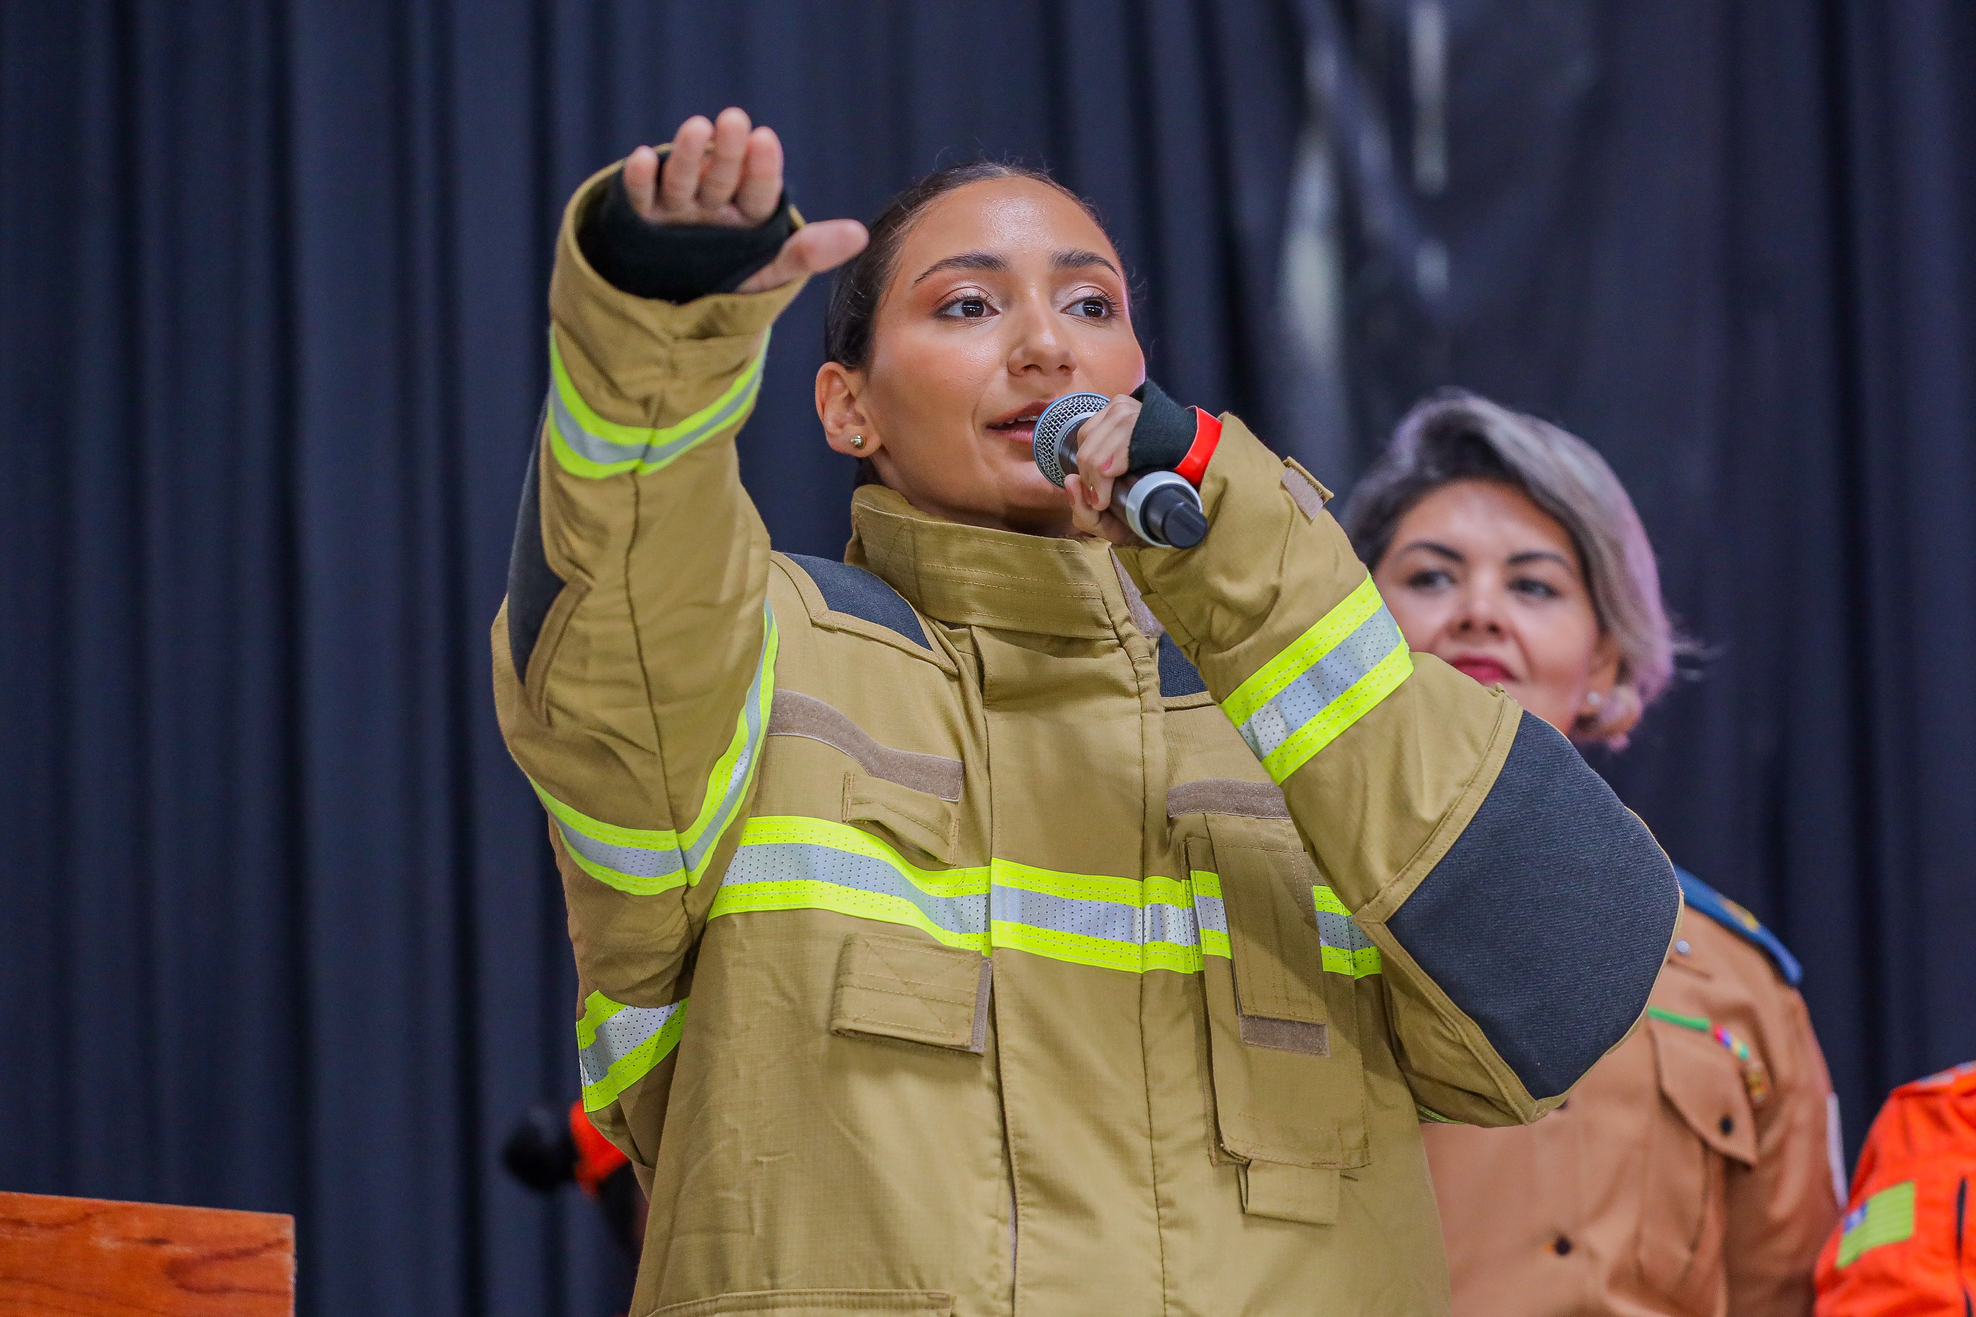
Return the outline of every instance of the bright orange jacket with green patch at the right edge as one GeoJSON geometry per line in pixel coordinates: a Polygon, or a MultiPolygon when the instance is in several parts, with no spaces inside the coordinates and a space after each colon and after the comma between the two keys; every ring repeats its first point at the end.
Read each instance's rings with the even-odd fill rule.
{"type": "Polygon", "coordinates": [[[1893,1090],[1818,1254],[1818,1317],[1976,1313],[1976,1060],[1893,1090]]]}

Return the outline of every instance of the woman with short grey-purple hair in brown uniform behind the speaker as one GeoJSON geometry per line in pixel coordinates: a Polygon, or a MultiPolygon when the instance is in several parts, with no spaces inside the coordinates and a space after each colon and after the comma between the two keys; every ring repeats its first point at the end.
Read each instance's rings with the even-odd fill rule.
{"type": "MultiPolygon", "coordinates": [[[[1652,545],[1583,440],[1441,395],[1401,423],[1344,523],[1409,648],[1575,742],[1622,748],[1668,687],[1682,642],[1652,545]]],[[[1798,964],[1680,879],[1642,1029],[1535,1125],[1427,1127],[1458,1317],[1810,1313],[1844,1171],[1798,964]]]]}

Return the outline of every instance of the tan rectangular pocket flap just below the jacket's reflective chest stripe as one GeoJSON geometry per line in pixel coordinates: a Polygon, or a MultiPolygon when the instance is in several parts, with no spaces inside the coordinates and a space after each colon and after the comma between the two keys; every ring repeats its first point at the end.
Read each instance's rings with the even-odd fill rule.
{"type": "Polygon", "coordinates": [[[980,1054],[988,1048],[992,973],[994,962],[980,952],[854,932],[838,952],[830,1033],[980,1054]]]}

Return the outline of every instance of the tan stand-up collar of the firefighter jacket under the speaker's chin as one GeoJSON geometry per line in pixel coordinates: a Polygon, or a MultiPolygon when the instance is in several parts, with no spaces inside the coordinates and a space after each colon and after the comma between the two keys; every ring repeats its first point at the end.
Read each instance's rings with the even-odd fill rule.
{"type": "Polygon", "coordinates": [[[929,517],[883,486],[852,498],[844,559],[929,618],[1039,636],[1111,640],[1132,630],[1111,545],[929,517]]]}

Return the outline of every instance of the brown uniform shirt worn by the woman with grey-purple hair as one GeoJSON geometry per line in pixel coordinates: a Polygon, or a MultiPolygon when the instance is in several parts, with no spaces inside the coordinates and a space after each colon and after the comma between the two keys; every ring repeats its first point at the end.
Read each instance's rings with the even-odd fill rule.
{"type": "Polygon", "coordinates": [[[1804,1317],[1834,1108],[1804,999],[1689,904],[1646,1021],[1557,1112],[1425,1131],[1456,1317],[1804,1317]]]}

